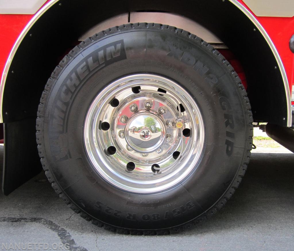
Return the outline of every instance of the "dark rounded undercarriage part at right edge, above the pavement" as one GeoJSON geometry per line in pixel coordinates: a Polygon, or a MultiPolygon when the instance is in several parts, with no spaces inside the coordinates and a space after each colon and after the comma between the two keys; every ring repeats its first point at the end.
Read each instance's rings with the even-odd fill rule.
{"type": "Polygon", "coordinates": [[[283,145],[285,148],[294,153],[293,129],[268,123],[265,126],[265,132],[270,138],[277,141],[279,144],[283,145]]]}

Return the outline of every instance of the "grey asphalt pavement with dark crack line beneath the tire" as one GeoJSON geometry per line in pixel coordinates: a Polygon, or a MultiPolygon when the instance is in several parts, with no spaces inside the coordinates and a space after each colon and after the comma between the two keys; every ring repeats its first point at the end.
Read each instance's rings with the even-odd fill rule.
{"type": "Polygon", "coordinates": [[[242,183],[220,212],[191,230],[167,236],[121,235],[95,227],[63,203],[42,172],[8,197],[0,195],[1,250],[2,243],[4,248],[26,243],[27,250],[34,250],[28,243],[47,243],[45,250],[59,243],[89,251],[294,250],[293,163],[293,153],[253,152],[242,183]]]}

